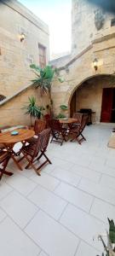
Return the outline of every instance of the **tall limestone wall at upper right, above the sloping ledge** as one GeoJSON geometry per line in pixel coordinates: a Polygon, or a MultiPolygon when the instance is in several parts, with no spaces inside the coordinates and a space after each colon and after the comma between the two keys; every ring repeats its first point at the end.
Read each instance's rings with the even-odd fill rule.
{"type": "Polygon", "coordinates": [[[72,55],[78,55],[97,38],[115,32],[113,15],[103,12],[87,0],[72,0],[72,55]]]}

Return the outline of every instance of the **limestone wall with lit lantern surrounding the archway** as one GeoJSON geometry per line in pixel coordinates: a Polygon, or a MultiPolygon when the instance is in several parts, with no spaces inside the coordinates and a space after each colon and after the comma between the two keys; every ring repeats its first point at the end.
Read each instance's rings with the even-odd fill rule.
{"type": "MultiPolygon", "coordinates": [[[[79,55],[78,58],[68,65],[68,69],[68,73],[66,73],[65,67],[60,69],[60,75],[65,79],[65,82],[62,84],[58,82],[53,84],[52,98],[55,114],[60,112],[60,104],[68,105],[68,115],[70,114],[72,95],[85,80],[95,77],[96,75],[114,73],[114,37],[101,38],[101,40],[95,41],[90,48],[86,49],[82,55],[79,55]],[[97,71],[95,71],[95,68],[93,67],[95,56],[98,60],[97,71]]],[[[87,94],[88,93],[89,90],[87,91],[87,94]]]]}

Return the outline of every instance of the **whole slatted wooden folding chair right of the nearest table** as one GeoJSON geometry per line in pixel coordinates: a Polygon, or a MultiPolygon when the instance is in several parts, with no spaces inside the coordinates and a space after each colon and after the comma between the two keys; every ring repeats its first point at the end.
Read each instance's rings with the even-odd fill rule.
{"type": "MultiPolygon", "coordinates": [[[[20,153],[23,154],[22,159],[26,158],[28,161],[28,165],[26,166],[26,169],[29,166],[32,166],[32,168],[37,172],[37,175],[40,175],[39,170],[49,162],[51,164],[51,161],[45,154],[46,148],[49,143],[49,137],[50,137],[50,129],[45,129],[41,133],[38,134],[37,140],[33,143],[30,143],[29,145],[24,145],[22,148],[20,148],[20,153]],[[34,162],[38,161],[44,156],[46,159],[43,161],[43,163],[40,166],[35,166],[34,162]]],[[[20,161],[19,160],[19,161],[20,161]]]]}

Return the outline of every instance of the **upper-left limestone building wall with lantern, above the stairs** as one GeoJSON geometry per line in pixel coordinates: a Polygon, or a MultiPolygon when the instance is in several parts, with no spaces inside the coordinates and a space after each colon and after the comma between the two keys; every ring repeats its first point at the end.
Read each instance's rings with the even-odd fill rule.
{"type": "Polygon", "coordinates": [[[30,84],[30,64],[39,64],[38,44],[46,47],[49,61],[48,26],[17,1],[0,2],[0,94],[12,96],[30,84]]]}

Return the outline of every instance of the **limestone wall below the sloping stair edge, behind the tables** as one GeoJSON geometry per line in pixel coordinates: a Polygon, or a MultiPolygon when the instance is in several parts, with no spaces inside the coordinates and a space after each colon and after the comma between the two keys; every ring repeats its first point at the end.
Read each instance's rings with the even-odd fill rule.
{"type": "Polygon", "coordinates": [[[48,96],[41,98],[39,90],[30,87],[0,107],[0,125],[31,125],[26,109],[22,109],[27,105],[28,96],[35,96],[38,106],[49,104],[48,96]]]}

